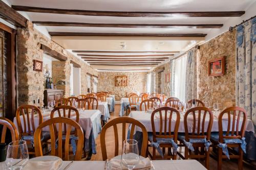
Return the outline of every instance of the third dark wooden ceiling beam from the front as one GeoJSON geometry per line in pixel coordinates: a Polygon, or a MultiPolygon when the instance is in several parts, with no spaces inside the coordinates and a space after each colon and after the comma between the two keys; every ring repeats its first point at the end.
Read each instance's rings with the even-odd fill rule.
{"type": "Polygon", "coordinates": [[[51,36],[91,36],[91,37],[205,37],[203,33],[179,33],[179,34],[156,34],[156,33],[83,33],[83,32],[49,32],[51,36]]]}

